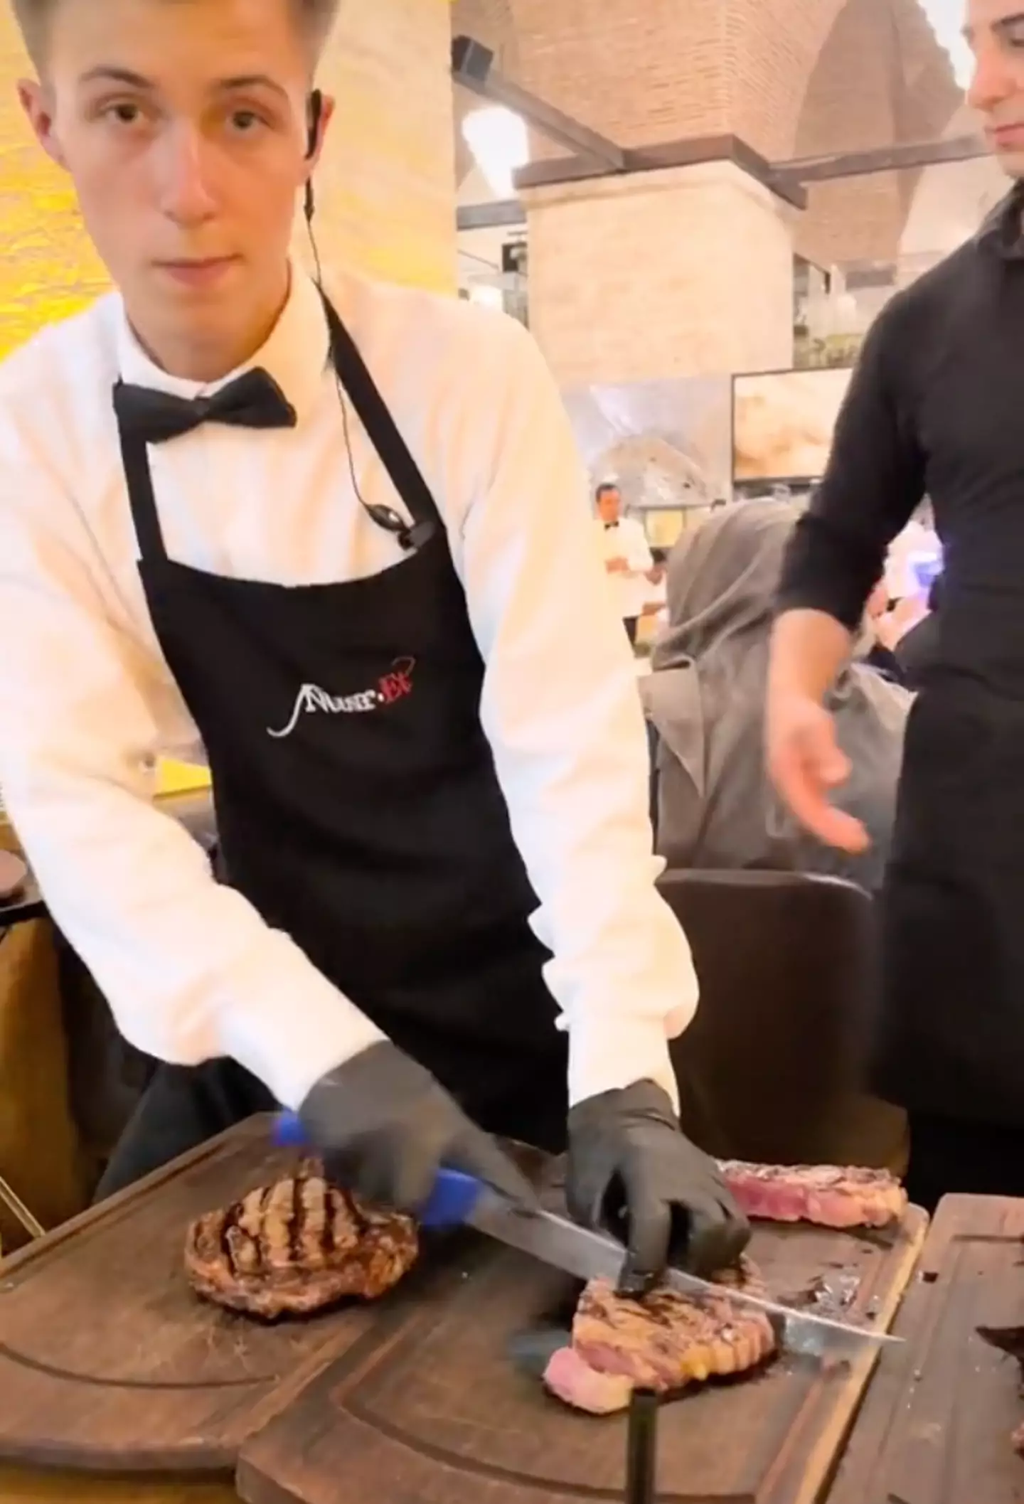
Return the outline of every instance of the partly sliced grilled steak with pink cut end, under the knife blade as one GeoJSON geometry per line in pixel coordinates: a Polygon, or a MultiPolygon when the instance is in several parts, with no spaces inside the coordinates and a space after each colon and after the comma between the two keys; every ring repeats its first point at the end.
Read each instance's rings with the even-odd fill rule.
{"type": "Polygon", "coordinates": [[[574,1409],[609,1415],[638,1387],[672,1393],[755,1369],[774,1352],[774,1331],[767,1316],[729,1301],[728,1286],[764,1286],[747,1259],[716,1278],[722,1295],[659,1289],[642,1299],[592,1280],[576,1307],[571,1348],[552,1355],[544,1384],[574,1409]]]}

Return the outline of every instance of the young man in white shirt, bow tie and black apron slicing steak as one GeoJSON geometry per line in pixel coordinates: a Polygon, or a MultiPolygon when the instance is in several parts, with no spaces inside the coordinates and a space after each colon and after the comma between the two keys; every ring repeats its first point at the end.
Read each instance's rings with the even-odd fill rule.
{"type": "Polygon", "coordinates": [[[334,11],[17,5],[117,286],[0,374],[0,785],[164,1062],[102,1190],[284,1104],[371,1197],[447,1163],[525,1200],[490,1133],[568,1113],[638,1280],[674,1220],[717,1263],[746,1224],[678,1130],[696,982],[550,378],[508,320],[289,263],[334,11]],[[223,886],[161,754],[209,760],[223,886]]]}

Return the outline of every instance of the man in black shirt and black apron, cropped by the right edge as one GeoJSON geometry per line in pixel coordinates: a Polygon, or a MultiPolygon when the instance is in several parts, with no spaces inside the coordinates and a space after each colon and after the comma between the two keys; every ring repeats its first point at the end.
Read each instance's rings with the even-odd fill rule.
{"type": "Polygon", "coordinates": [[[878,1086],[911,1113],[910,1190],[1024,1194],[1024,15],[971,0],[971,104],[1013,191],[886,307],[782,582],[768,701],[780,793],[821,839],[863,829],[824,695],[886,546],[925,492],[943,614],[910,717],[883,910],[878,1086]]]}

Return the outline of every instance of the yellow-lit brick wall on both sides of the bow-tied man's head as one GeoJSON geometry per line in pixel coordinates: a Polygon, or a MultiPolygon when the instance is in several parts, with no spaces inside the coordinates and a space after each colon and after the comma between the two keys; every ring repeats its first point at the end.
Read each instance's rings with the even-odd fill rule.
{"type": "MultiPolygon", "coordinates": [[[[454,168],[447,0],[350,0],[325,57],[338,114],[319,174],[319,245],[398,281],[454,290],[454,168]]],[[[105,287],[68,180],[29,137],[26,71],[0,5],[0,355],[105,287]]],[[[302,253],[304,254],[304,253],[302,253]]]]}

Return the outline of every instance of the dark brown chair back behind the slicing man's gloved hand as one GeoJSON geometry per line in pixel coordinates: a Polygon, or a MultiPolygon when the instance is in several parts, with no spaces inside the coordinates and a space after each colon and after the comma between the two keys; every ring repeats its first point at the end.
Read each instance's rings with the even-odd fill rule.
{"type": "Polygon", "coordinates": [[[669,871],[659,886],[701,982],[672,1045],[686,1131],[719,1158],[901,1172],[905,1114],[865,1090],[871,896],[806,872],[669,871]]]}

